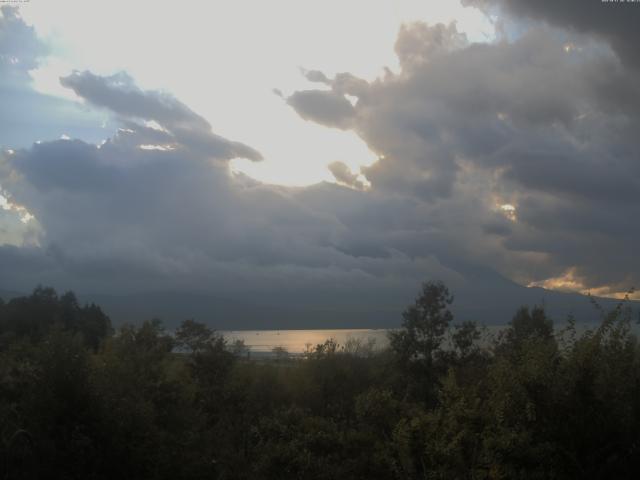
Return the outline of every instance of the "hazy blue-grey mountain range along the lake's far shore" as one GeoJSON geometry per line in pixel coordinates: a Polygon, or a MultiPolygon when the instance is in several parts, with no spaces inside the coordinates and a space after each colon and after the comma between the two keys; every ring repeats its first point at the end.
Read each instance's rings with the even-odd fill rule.
{"type": "MultiPolygon", "coordinates": [[[[317,329],[317,328],[394,328],[400,325],[402,311],[413,302],[413,291],[247,294],[246,298],[194,292],[150,292],[127,295],[82,294],[82,303],[100,305],[115,325],[140,323],[160,318],[168,328],[193,318],[219,330],[317,329]]],[[[506,324],[523,306],[543,305],[549,315],[561,322],[573,315],[578,322],[599,320],[599,312],[585,295],[527,288],[495,271],[483,267],[464,270],[464,282],[450,286],[454,295],[451,309],[455,322],[475,320],[485,325],[506,324]]],[[[5,301],[20,293],[0,290],[5,301]]],[[[594,298],[604,310],[619,300],[594,298]]],[[[635,315],[640,302],[629,302],[635,315]]]]}

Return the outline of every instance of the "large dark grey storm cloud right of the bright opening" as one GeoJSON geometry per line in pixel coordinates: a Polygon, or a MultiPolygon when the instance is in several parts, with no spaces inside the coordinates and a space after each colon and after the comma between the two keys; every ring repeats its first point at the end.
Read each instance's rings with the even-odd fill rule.
{"type": "Polygon", "coordinates": [[[314,73],[358,96],[352,129],[381,157],[362,169],[372,191],[424,202],[422,231],[398,227],[380,242],[525,283],[571,269],[587,287],[637,284],[640,229],[628,219],[640,205],[640,76],[602,40],[534,25],[469,44],[454,25],[418,23],[399,32],[398,74],[314,73]]]}

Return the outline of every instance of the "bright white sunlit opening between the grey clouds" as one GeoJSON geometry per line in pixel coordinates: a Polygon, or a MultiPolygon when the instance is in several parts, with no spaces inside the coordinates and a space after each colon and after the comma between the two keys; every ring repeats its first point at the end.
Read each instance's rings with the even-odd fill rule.
{"type": "Polygon", "coordinates": [[[367,80],[385,67],[397,71],[393,45],[403,22],[455,20],[472,41],[493,36],[482,13],[448,0],[186,1],[179,6],[60,0],[38,2],[37,8],[25,4],[21,12],[51,48],[50,57],[33,72],[40,91],[75,98],[59,77],[73,69],[124,70],[143,88],[171,92],[218,134],[247,143],[265,157],[261,164],[237,160],[234,169],[285,185],[334,181],[327,170],[332,162],[357,172],[376,161],[355,133],[305,122],[274,95],[273,89],[287,96],[310,88],[301,68],[329,76],[349,71],[367,80]],[[153,22],[142,25],[140,19],[150,12],[153,22]],[[366,21],[354,24],[365,12],[366,21]]]}

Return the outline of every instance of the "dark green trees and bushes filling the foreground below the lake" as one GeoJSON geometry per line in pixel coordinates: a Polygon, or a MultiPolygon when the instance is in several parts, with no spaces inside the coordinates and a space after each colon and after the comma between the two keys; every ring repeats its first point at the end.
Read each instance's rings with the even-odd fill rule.
{"type": "MultiPolygon", "coordinates": [[[[391,346],[252,361],[193,320],[112,332],[38,288],[0,302],[6,479],[637,478],[640,344],[522,308],[495,340],[423,285],[391,346]]],[[[236,348],[237,347],[237,348],[236,348]]]]}

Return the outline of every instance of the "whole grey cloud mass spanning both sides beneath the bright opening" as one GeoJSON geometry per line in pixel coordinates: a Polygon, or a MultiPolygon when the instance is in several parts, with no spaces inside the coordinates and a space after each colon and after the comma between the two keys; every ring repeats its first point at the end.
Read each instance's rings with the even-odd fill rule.
{"type": "Polygon", "coordinates": [[[121,128],[0,154],[8,201],[35,216],[2,212],[0,285],[394,315],[425,278],[478,301],[488,286],[513,292],[493,270],[626,288],[640,280],[640,82],[598,42],[534,25],[473,44],[453,24],[414,23],[399,32],[397,73],[306,72],[321,88],[288,104],[367,143],[379,160],[361,169],[366,189],[344,162],[329,165],[339,184],[308,188],[233,174],[228,160],[260,153],[125,73],[74,72],[63,85],[121,128]]]}

